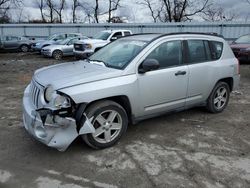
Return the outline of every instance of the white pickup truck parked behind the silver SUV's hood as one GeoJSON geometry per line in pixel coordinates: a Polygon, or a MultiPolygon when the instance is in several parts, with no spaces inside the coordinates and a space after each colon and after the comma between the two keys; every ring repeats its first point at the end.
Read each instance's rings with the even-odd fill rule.
{"type": "Polygon", "coordinates": [[[101,49],[108,43],[132,35],[130,30],[104,30],[98,33],[93,39],[80,40],[74,43],[74,55],[76,58],[86,58],[101,49]]]}

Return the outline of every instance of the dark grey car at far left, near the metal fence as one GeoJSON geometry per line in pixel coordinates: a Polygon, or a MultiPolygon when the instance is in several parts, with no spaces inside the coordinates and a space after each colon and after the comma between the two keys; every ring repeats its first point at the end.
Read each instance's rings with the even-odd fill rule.
{"type": "Polygon", "coordinates": [[[33,42],[26,37],[20,36],[0,36],[0,50],[20,50],[28,52],[33,42]]]}

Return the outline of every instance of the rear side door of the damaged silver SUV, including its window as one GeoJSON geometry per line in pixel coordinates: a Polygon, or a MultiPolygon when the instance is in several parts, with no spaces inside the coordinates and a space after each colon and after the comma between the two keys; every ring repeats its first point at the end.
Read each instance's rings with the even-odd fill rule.
{"type": "Polygon", "coordinates": [[[186,105],[206,101],[211,92],[216,59],[212,57],[210,41],[188,39],[185,41],[188,53],[189,81],[186,105]]]}

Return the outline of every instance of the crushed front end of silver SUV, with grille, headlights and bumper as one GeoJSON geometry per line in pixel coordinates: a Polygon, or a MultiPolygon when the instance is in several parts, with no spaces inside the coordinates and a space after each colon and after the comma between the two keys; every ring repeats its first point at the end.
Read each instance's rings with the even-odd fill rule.
{"type": "Polygon", "coordinates": [[[50,87],[44,88],[34,79],[26,87],[23,97],[24,127],[36,140],[65,151],[79,134],[93,133],[95,129],[85,115],[79,127],[71,101],[50,87]],[[49,101],[46,101],[46,92],[49,101]]]}

